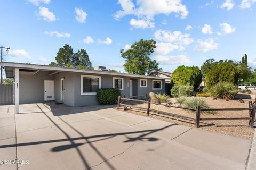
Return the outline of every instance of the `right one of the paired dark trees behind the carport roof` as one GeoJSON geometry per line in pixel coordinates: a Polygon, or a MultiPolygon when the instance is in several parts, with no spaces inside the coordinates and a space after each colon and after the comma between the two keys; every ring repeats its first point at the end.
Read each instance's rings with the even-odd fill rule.
{"type": "Polygon", "coordinates": [[[74,66],[80,66],[84,68],[92,67],[92,62],[90,61],[89,56],[84,49],[78,49],[78,52],[72,56],[71,63],[74,66]]]}

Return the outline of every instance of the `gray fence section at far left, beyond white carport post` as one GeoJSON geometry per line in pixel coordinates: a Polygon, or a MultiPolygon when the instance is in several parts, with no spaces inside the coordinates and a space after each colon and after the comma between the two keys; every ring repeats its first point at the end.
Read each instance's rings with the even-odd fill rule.
{"type": "Polygon", "coordinates": [[[0,84],[0,105],[13,104],[13,85],[0,84]]]}

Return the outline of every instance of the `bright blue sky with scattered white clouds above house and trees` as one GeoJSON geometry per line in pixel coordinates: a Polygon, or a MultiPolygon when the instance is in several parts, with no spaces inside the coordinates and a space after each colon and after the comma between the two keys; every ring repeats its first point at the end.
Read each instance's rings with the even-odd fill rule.
{"type": "Polygon", "coordinates": [[[64,44],[85,49],[93,66],[124,71],[120,49],[155,39],[163,71],[207,58],[256,67],[256,0],[2,0],[4,61],[49,64],[64,44]]]}

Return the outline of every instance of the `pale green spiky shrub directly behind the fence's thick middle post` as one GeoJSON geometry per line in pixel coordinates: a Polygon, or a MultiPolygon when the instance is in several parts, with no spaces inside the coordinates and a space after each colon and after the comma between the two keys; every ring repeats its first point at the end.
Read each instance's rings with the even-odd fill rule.
{"type": "MultiPolygon", "coordinates": [[[[200,106],[202,109],[212,108],[203,99],[197,98],[197,97],[190,98],[190,99],[186,100],[186,102],[185,102],[185,107],[187,107],[187,108],[196,109],[197,106],[200,106]]],[[[215,111],[202,111],[202,112],[209,113],[209,114],[216,113],[215,111]]]]}

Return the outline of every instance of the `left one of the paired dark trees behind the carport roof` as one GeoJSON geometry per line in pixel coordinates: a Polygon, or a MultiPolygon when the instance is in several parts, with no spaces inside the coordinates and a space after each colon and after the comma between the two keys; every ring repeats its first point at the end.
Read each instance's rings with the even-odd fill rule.
{"type": "Polygon", "coordinates": [[[55,60],[58,66],[70,66],[71,57],[73,56],[73,48],[65,44],[62,48],[59,49],[55,60]]]}

